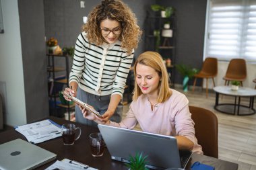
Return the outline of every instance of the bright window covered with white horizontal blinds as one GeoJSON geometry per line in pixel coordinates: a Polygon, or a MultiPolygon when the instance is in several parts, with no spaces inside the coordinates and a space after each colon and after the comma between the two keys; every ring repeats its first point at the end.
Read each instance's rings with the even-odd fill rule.
{"type": "Polygon", "coordinates": [[[204,57],[256,61],[256,0],[208,0],[204,57]]]}

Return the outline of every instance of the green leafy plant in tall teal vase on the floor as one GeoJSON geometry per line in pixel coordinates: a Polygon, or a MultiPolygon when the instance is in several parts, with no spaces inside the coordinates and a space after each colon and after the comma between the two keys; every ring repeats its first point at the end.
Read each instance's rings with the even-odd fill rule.
{"type": "Polygon", "coordinates": [[[198,69],[191,68],[188,65],[175,65],[179,73],[183,76],[183,91],[187,92],[189,89],[189,79],[198,73],[198,69]]]}

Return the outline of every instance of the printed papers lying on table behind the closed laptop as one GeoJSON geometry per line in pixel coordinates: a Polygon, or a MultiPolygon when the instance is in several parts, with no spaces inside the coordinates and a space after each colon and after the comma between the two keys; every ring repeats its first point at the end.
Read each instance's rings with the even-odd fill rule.
{"type": "Polygon", "coordinates": [[[61,126],[52,120],[42,120],[15,128],[23,134],[28,142],[40,143],[61,136],[61,126]]]}

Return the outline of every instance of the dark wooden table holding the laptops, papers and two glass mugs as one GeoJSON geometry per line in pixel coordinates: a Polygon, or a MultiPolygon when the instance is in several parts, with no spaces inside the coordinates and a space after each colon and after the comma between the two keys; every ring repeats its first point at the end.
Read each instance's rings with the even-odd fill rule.
{"type": "MultiPolygon", "coordinates": [[[[63,120],[60,118],[50,117],[51,120],[54,122],[57,122],[58,124],[64,124],[67,122],[70,122],[68,120],[63,120]]],[[[110,158],[110,154],[108,153],[107,148],[104,150],[104,155],[102,157],[92,157],[90,146],[89,146],[89,134],[92,132],[98,132],[98,128],[93,128],[91,126],[86,126],[83,124],[74,123],[76,126],[80,127],[82,129],[82,135],[78,140],[75,141],[75,144],[72,146],[65,146],[63,145],[62,138],[55,138],[53,140],[48,140],[46,142],[42,142],[40,144],[37,144],[38,146],[45,148],[48,151],[51,151],[53,153],[57,154],[57,159],[61,161],[62,159],[71,159],[78,161],[80,163],[84,163],[86,165],[89,165],[91,167],[100,169],[100,170],[123,170],[127,169],[125,167],[124,163],[121,163],[119,161],[113,161],[110,158]]],[[[19,132],[13,130],[7,130],[5,132],[0,133],[0,144],[4,142],[8,142],[10,140],[14,140],[16,138],[22,138],[26,140],[26,138],[20,134],[19,132]]],[[[231,163],[228,161],[222,161],[220,159],[216,159],[213,157],[207,157],[204,155],[197,155],[193,154],[191,160],[189,161],[186,169],[190,169],[191,165],[199,161],[200,163],[204,163],[207,165],[211,165],[215,167],[215,170],[237,170],[238,164],[231,163]]],[[[46,167],[49,167],[52,165],[55,161],[51,161],[50,163],[47,163],[46,165],[42,165],[41,167],[38,167],[37,169],[46,169],[46,167]]]]}

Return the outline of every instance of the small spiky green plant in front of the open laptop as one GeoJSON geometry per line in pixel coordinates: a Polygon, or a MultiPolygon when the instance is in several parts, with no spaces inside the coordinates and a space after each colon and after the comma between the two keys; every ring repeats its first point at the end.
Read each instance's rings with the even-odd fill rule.
{"type": "Polygon", "coordinates": [[[143,157],[142,153],[136,153],[134,157],[130,155],[130,163],[126,163],[125,165],[129,170],[148,170],[148,168],[145,167],[147,157],[148,156],[143,157]]]}

